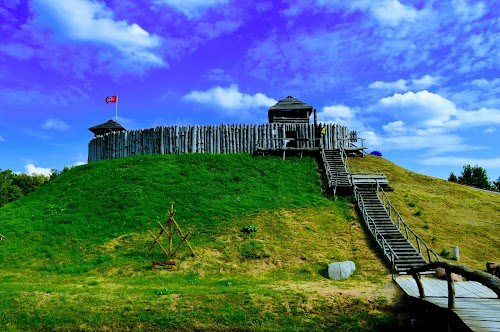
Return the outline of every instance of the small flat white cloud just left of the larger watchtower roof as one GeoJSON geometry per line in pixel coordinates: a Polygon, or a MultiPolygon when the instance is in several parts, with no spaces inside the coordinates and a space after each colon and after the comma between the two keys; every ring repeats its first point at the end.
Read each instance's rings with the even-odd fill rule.
{"type": "Polygon", "coordinates": [[[192,91],[185,95],[184,99],[233,111],[269,107],[277,103],[275,99],[269,98],[262,93],[254,95],[241,93],[236,84],[231,84],[227,88],[216,86],[206,91],[192,91]]]}

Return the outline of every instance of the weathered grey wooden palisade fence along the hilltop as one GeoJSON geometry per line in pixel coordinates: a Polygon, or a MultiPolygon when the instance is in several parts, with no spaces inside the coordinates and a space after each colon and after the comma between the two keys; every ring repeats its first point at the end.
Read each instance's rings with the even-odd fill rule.
{"type": "Polygon", "coordinates": [[[214,126],[162,126],[127,130],[96,136],[89,142],[88,161],[122,158],[140,154],[253,153],[256,149],[286,148],[287,132],[294,132],[296,148],[335,149],[348,144],[356,132],[337,124],[233,124],[214,126]],[[317,137],[318,136],[318,137],[317,137]]]}

